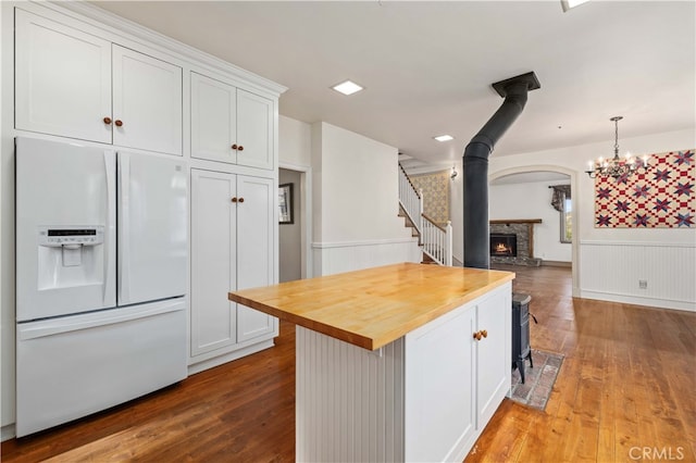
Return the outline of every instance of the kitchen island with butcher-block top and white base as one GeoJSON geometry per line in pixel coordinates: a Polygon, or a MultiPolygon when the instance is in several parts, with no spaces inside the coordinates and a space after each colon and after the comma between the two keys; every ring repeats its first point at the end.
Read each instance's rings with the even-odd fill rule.
{"type": "Polygon", "coordinates": [[[403,263],[228,298],[297,325],[297,461],[462,461],[510,390],[513,278],[403,263]]]}

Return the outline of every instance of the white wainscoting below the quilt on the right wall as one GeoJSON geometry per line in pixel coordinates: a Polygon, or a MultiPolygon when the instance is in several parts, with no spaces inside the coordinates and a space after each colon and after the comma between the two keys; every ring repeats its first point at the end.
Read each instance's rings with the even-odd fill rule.
{"type": "Polygon", "coordinates": [[[581,241],[581,296],[696,312],[696,245],[581,241]]]}

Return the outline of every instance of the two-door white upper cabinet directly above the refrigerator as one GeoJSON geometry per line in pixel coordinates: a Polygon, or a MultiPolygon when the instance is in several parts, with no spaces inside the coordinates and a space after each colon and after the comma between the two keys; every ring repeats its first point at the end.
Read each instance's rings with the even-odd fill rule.
{"type": "Polygon", "coordinates": [[[17,129],[182,154],[179,66],[18,9],[15,21],[17,129]]]}

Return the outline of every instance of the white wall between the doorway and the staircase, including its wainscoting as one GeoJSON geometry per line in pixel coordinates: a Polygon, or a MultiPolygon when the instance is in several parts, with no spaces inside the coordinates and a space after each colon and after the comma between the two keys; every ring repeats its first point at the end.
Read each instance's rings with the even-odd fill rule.
{"type": "Polygon", "coordinates": [[[316,275],[418,261],[398,217],[398,151],[326,123],[312,125],[316,275]]]}

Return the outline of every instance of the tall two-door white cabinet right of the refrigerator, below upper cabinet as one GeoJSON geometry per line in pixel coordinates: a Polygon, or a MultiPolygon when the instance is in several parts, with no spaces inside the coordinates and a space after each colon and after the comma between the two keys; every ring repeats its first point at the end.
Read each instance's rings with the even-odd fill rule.
{"type": "Polygon", "coordinates": [[[274,193],[272,178],[191,168],[189,364],[277,336],[275,317],[227,300],[274,283],[274,193]]]}

